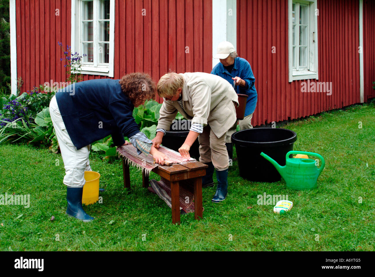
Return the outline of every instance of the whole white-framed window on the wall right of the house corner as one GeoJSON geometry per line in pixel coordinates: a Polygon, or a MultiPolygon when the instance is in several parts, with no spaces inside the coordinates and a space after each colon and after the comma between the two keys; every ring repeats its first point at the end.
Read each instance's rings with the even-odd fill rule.
{"type": "Polygon", "coordinates": [[[318,79],[316,0],[288,0],[289,81],[318,79]]]}

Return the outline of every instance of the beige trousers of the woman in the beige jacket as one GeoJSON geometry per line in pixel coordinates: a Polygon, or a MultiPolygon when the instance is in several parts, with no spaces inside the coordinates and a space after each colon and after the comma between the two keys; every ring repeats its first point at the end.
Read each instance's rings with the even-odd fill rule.
{"type": "Polygon", "coordinates": [[[199,141],[199,161],[209,163],[212,161],[216,170],[225,170],[229,167],[229,157],[225,146],[225,134],[220,138],[216,137],[210,125],[203,128],[199,141]]]}

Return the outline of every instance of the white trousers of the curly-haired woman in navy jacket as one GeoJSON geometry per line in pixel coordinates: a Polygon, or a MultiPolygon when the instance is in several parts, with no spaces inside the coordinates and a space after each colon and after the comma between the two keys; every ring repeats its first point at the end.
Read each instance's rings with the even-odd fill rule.
{"type": "Polygon", "coordinates": [[[65,176],[63,183],[68,187],[83,187],[86,182],[85,170],[92,170],[89,161],[90,145],[79,150],[73,145],[68,131],[66,131],[55,96],[52,97],[49,103],[49,114],[51,115],[64,162],[65,176]]]}

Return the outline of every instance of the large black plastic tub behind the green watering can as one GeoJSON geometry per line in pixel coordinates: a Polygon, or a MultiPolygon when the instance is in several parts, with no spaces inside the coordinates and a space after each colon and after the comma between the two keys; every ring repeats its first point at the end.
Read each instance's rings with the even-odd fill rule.
{"type": "Polygon", "coordinates": [[[254,182],[279,181],[279,172],[260,153],[264,152],[285,166],[285,155],[293,150],[296,140],[296,132],[281,128],[253,128],[235,132],[232,142],[236,145],[240,176],[254,182]]]}

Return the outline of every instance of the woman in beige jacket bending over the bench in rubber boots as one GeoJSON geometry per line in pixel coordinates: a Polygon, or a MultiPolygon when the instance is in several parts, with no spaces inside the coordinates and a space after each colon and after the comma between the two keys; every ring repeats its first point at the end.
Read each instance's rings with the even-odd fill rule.
{"type": "Polygon", "coordinates": [[[191,119],[189,134],[178,151],[182,157],[189,157],[190,146],[198,138],[199,161],[208,165],[202,187],[213,186],[215,168],[217,189],[212,202],[223,201],[227,195],[229,165],[225,135],[237,120],[234,103],[238,105],[238,96],[233,87],[223,78],[208,73],[172,72],[160,78],[157,93],[164,102],[153,146],[159,148],[178,111],[191,119]]]}

